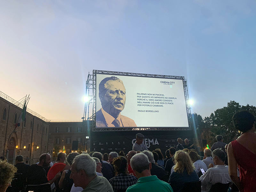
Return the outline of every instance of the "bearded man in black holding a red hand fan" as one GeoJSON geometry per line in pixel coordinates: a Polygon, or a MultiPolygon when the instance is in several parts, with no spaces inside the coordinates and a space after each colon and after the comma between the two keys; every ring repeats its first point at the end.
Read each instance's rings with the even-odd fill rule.
{"type": "Polygon", "coordinates": [[[39,158],[38,164],[33,164],[28,168],[27,184],[28,185],[40,185],[44,183],[52,183],[60,177],[60,172],[58,172],[55,177],[48,181],[44,167],[50,166],[51,155],[49,153],[44,153],[39,158]]]}

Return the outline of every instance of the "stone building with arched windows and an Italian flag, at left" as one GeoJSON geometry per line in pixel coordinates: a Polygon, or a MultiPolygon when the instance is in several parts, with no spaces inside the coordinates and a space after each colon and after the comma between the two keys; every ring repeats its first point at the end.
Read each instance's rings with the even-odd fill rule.
{"type": "Polygon", "coordinates": [[[7,156],[12,163],[15,156],[22,155],[24,161],[33,164],[43,153],[52,155],[50,121],[27,108],[25,121],[15,128],[22,105],[0,92],[0,155],[7,156]]]}

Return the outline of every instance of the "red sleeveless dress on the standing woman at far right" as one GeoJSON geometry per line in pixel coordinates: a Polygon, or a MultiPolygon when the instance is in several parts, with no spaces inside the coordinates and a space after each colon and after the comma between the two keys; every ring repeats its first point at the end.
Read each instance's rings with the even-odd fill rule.
{"type": "Polygon", "coordinates": [[[243,192],[256,191],[256,154],[249,151],[236,140],[231,142],[234,156],[240,172],[243,192]]]}

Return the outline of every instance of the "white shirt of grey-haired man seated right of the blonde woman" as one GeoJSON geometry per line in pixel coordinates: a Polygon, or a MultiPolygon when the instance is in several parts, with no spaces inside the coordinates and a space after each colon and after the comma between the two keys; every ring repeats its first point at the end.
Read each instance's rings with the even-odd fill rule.
{"type": "Polygon", "coordinates": [[[216,183],[227,184],[232,182],[226,165],[215,165],[209,168],[199,179],[201,180],[202,192],[210,191],[212,185],[216,183]]]}

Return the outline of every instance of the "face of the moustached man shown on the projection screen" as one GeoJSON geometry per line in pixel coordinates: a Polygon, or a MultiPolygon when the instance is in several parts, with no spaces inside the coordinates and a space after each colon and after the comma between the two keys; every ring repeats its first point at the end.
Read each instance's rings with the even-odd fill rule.
{"type": "Polygon", "coordinates": [[[107,92],[104,100],[110,104],[110,109],[114,108],[123,111],[126,100],[124,85],[119,81],[109,80],[106,82],[105,87],[107,88],[107,92]]]}

